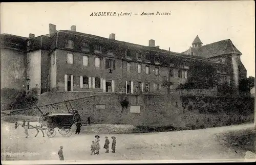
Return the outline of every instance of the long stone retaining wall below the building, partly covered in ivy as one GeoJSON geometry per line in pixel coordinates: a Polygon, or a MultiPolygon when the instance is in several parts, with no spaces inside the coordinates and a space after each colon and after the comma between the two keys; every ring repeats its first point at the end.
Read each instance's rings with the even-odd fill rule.
{"type": "MultiPolygon", "coordinates": [[[[72,107],[78,110],[84,123],[87,122],[87,118],[90,116],[93,123],[132,124],[150,127],[172,125],[177,129],[196,129],[252,122],[254,119],[254,100],[252,99],[242,100],[239,103],[240,106],[233,103],[232,111],[228,113],[222,110],[228,99],[223,100],[223,98],[211,97],[210,100],[206,97],[189,97],[187,100],[184,100],[175,93],[169,98],[163,95],[121,95],[118,93],[115,95],[81,92],[44,93],[40,96],[38,105],[58,103],[64,101],[64,99],[70,100],[72,107]],[[122,108],[120,102],[125,97],[127,97],[129,106],[122,108]],[[212,100],[215,101],[212,102],[212,100]],[[216,107],[217,103],[219,107],[216,107]],[[97,109],[97,105],[105,105],[105,109],[97,109]],[[131,106],[140,106],[140,113],[131,113],[131,106]],[[221,113],[212,111],[202,112],[199,106],[209,110],[213,109],[209,107],[215,107],[221,113]],[[241,109],[247,109],[247,112],[241,113],[241,109]]],[[[228,105],[230,107],[226,105],[226,108],[231,108],[231,104],[230,102],[230,105],[228,105]]],[[[71,110],[69,103],[67,105],[71,110]]],[[[48,105],[40,107],[40,109],[42,111],[50,110],[51,112],[58,113],[68,112],[65,103],[48,105]]],[[[36,108],[13,114],[40,115],[36,108]]]]}

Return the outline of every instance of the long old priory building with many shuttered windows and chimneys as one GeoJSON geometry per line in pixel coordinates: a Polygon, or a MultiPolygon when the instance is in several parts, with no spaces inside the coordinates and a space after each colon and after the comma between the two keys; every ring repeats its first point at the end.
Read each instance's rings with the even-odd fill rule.
{"type": "Polygon", "coordinates": [[[197,36],[193,48],[176,53],[161,50],[153,39],[143,46],[117,41],[115,34],[103,38],[76,32],[76,26],[57,31],[50,24],[49,34],[38,37],[1,34],[1,88],[160,94],[166,93],[164,81],[172,88],[185,83],[198,62],[215,68],[220,83],[237,87],[246,77],[240,56],[230,40],[203,46],[197,36]]]}

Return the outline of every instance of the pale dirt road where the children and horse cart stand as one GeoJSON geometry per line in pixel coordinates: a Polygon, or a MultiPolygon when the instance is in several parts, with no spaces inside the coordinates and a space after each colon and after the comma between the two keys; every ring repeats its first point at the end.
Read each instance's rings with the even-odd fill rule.
{"type": "MultiPolygon", "coordinates": [[[[138,133],[99,134],[99,155],[90,155],[90,145],[95,134],[73,134],[61,137],[42,137],[36,130],[29,130],[25,138],[24,129],[14,129],[14,123],[2,123],[2,160],[57,160],[59,146],[63,146],[66,160],[184,160],[184,159],[244,159],[246,150],[222,144],[217,135],[224,132],[254,130],[254,124],[207,128],[199,130],[138,133]],[[106,154],[104,137],[116,136],[116,153],[106,154]],[[9,157],[6,158],[6,155],[9,157]]],[[[112,143],[112,139],[110,138],[112,143]]]]}

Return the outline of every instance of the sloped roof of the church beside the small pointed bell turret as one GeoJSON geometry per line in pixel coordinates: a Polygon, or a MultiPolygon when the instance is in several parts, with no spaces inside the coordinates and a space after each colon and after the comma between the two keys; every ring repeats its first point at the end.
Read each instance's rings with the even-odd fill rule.
{"type": "Polygon", "coordinates": [[[182,54],[188,55],[189,52],[193,52],[195,56],[200,56],[205,58],[211,58],[211,57],[220,56],[224,54],[231,54],[231,53],[237,53],[242,55],[242,53],[236,48],[236,46],[233,45],[230,39],[206,44],[199,48],[190,48],[190,49],[188,49],[185,52],[182,52],[182,54]]]}

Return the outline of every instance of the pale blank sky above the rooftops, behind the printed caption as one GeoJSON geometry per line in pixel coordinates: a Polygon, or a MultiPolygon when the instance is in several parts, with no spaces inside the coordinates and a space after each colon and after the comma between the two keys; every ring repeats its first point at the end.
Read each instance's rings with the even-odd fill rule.
{"type": "Polygon", "coordinates": [[[1,3],[1,34],[28,37],[70,30],[148,45],[155,39],[160,49],[183,52],[196,35],[203,45],[231,39],[242,52],[247,77],[255,77],[254,1],[208,2],[74,2],[1,3]],[[92,12],[132,12],[132,16],[90,16],[92,12]],[[142,12],[172,12],[170,16],[140,16],[142,12]],[[133,13],[139,13],[134,15],[133,13]]]}

